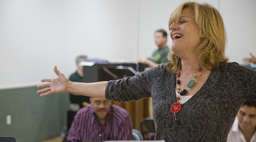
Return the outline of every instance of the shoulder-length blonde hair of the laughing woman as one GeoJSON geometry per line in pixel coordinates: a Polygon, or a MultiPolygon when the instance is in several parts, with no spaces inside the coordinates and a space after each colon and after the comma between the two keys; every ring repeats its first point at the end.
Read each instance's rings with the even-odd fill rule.
{"type": "MultiPolygon", "coordinates": [[[[204,62],[208,70],[228,62],[228,58],[225,57],[227,39],[223,18],[220,16],[218,10],[210,6],[210,4],[199,4],[197,2],[185,2],[181,4],[171,13],[169,28],[171,23],[178,20],[181,12],[185,8],[193,11],[196,25],[204,35],[201,44],[198,46],[198,50],[201,53],[199,59],[204,62]]],[[[170,62],[166,65],[166,70],[173,73],[181,70],[181,58],[171,51],[167,58],[170,62]]],[[[201,67],[201,65],[199,66],[201,67]]]]}

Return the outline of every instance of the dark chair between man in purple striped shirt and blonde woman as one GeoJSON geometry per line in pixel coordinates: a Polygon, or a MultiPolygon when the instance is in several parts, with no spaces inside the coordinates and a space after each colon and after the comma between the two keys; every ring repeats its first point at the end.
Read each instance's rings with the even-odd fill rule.
{"type": "Polygon", "coordinates": [[[154,140],[156,129],[154,126],[154,119],[145,118],[140,123],[140,129],[144,140],[154,140]]]}

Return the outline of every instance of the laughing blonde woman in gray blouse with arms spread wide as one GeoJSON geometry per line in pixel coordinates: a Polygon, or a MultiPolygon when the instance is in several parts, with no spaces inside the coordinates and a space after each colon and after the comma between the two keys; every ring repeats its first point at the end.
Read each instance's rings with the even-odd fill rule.
{"type": "Polygon", "coordinates": [[[171,13],[171,63],[109,82],[45,79],[41,96],[73,92],[115,101],[152,97],[156,140],[227,141],[243,102],[256,97],[256,72],[225,58],[225,28],[209,4],[186,2],[171,13]]]}

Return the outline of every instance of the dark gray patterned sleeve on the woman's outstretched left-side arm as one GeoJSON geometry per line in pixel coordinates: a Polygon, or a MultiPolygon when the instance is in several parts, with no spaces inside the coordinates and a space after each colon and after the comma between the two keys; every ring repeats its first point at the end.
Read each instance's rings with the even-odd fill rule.
{"type": "MultiPolygon", "coordinates": [[[[151,97],[151,93],[159,82],[163,82],[166,65],[153,67],[133,77],[126,77],[121,80],[111,80],[107,83],[105,96],[117,102],[143,99],[151,97]]],[[[169,72],[167,73],[169,74],[169,72]]]]}

